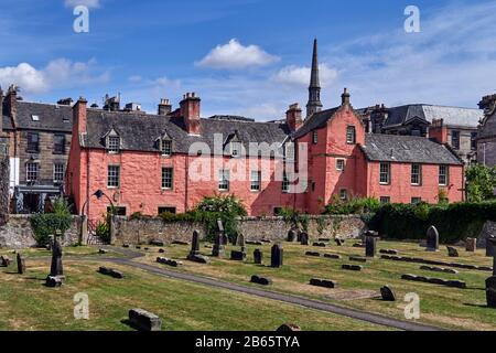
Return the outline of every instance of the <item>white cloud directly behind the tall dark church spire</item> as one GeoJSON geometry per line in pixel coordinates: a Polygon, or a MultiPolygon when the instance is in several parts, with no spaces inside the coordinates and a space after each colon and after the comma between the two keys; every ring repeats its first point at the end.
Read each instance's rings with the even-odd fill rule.
{"type": "MultiPolygon", "coordinates": [[[[337,71],[327,66],[327,64],[321,64],[319,66],[320,69],[320,78],[321,85],[323,87],[332,84],[337,77],[337,71]]],[[[272,79],[274,82],[284,84],[284,85],[293,85],[293,86],[308,86],[310,84],[310,75],[311,75],[310,66],[285,66],[281,68],[272,79]]]]}

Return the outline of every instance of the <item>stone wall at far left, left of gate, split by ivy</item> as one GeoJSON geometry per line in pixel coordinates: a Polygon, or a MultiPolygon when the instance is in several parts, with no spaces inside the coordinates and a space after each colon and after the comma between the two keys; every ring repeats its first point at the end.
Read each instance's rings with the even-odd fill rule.
{"type": "MultiPolygon", "coordinates": [[[[0,226],[0,247],[26,248],[36,246],[31,228],[30,215],[10,215],[9,222],[0,226]]],[[[71,228],[66,232],[62,245],[75,245],[79,242],[80,218],[75,216],[71,228]]]]}

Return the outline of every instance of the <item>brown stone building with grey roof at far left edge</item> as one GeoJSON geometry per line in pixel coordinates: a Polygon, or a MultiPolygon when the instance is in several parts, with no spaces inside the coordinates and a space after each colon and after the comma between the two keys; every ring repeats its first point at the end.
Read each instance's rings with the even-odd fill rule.
{"type": "Polygon", "coordinates": [[[11,86],[3,104],[3,130],[10,136],[12,213],[35,213],[61,195],[72,133],[71,99],[56,105],[24,101],[11,86]]]}

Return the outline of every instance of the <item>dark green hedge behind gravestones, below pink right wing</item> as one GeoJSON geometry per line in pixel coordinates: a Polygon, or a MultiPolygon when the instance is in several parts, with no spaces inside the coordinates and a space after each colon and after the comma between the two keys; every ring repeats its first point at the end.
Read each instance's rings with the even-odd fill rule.
{"type": "Polygon", "coordinates": [[[369,218],[368,226],[386,238],[424,239],[427,229],[434,225],[440,240],[453,244],[477,237],[486,221],[496,222],[496,202],[387,204],[369,218]]]}

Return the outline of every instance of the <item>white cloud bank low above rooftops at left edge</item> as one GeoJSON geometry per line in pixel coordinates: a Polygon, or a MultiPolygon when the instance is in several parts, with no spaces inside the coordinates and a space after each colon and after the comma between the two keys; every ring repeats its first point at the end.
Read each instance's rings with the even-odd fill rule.
{"type": "Polygon", "coordinates": [[[0,67],[0,85],[7,87],[14,84],[28,94],[42,94],[51,89],[108,82],[109,72],[94,73],[97,71],[95,65],[94,60],[80,63],[57,58],[37,69],[28,63],[21,63],[18,66],[0,67]]]}

